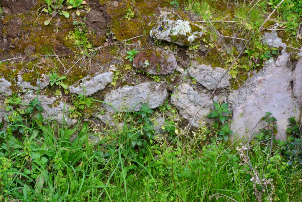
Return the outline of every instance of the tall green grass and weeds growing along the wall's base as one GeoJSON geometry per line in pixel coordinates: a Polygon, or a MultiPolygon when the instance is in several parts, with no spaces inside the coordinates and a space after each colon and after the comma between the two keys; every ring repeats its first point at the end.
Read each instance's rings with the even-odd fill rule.
{"type": "MultiPolygon", "coordinates": [[[[122,127],[100,128],[45,120],[38,104],[23,122],[12,112],[0,132],[2,201],[294,201],[302,195],[300,164],[289,165],[271,144],[271,125],[249,145],[218,141],[219,131],[210,127],[169,143],[178,127],[170,120],[166,133],[156,135],[146,105],[116,116],[122,127]]],[[[172,111],[168,103],[161,109],[172,111]]]]}

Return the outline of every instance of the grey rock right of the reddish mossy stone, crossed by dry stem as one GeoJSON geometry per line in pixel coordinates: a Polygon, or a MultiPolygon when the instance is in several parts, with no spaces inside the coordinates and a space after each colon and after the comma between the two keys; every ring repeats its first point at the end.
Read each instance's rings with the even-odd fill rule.
{"type": "Polygon", "coordinates": [[[229,79],[231,79],[231,76],[226,74],[226,69],[220,67],[212,68],[211,65],[199,65],[197,62],[194,62],[188,72],[192,78],[195,78],[199,84],[208,90],[214,90],[224,74],[217,89],[227,88],[230,85],[229,79]]]}

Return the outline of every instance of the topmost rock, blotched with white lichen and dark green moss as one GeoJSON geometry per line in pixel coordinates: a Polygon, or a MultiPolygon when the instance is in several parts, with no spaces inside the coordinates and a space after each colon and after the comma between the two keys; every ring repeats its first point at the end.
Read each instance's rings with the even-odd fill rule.
{"type": "Polygon", "coordinates": [[[150,37],[182,46],[196,43],[203,35],[203,28],[179,15],[163,12],[150,30],[150,37]]]}

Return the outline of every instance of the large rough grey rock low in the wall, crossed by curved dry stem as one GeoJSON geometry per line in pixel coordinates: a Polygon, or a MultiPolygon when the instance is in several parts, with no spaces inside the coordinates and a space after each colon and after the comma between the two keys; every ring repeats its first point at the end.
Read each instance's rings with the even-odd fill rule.
{"type": "MultiPolygon", "coordinates": [[[[207,114],[213,110],[211,101],[208,101],[204,107],[201,108],[210,95],[211,92],[207,90],[194,89],[190,84],[182,83],[173,91],[171,103],[179,110],[179,114],[189,121],[192,121],[198,112],[192,125],[201,127],[207,121],[207,114]]],[[[221,93],[215,96],[214,100],[220,103],[226,101],[226,94],[221,93]]]]}

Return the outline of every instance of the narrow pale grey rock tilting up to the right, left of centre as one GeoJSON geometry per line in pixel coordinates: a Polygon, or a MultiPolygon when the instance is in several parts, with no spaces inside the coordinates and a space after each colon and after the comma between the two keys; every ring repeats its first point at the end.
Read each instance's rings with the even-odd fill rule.
{"type": "Polygon", "coordinates": [[[98,92],[99,90],[103,90],[107,84],[109,84],[113,79],[113,73],[105,72],[102,74],[97,74],[96,76],[90,78],[86,76],[81,79],[76,84],[69,87],[69,92],[83,95],[92,95],[98,92]]]}

